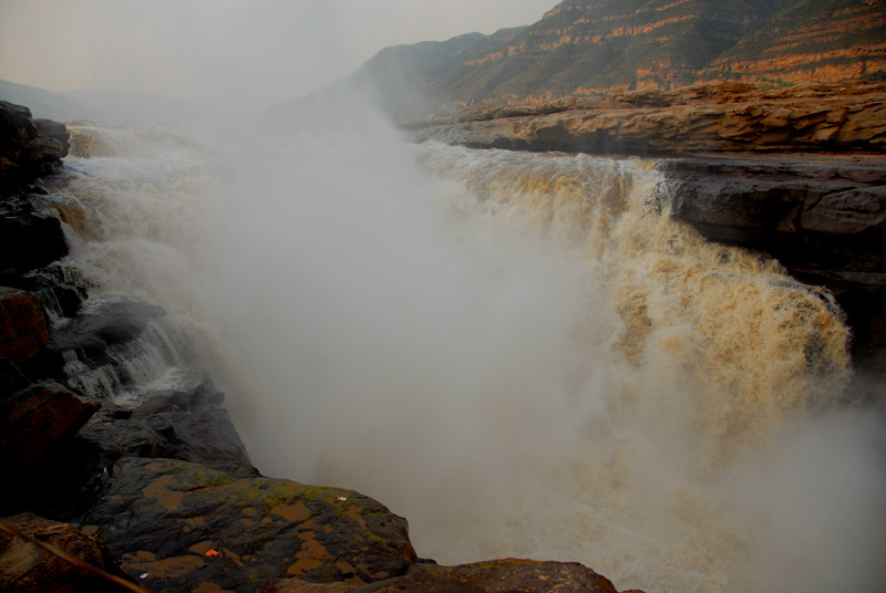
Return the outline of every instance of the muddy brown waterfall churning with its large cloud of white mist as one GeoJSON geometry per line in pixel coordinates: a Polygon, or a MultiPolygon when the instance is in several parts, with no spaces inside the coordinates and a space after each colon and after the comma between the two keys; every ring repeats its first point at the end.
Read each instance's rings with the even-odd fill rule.
{"type": "Polygon", "coordinates": [[[69,273],[90,306],[175,314],[121,353],[126,397],[209,367],[264,474],[381,500],[441,563],[579,561],[650,593],[883,576],[880,428],[838,308],[670,220],[653,163],[371,122],[69,129],[47,197],[69,273]]]}

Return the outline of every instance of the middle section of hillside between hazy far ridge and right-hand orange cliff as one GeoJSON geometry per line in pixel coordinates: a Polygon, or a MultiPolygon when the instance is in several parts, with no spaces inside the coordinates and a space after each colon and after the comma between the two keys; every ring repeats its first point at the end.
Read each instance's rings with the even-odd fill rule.
{"type": "Polygon", "coordinates": [[[506,45],[437,81],[467,103],[671,89],[769,22],[780,2],[567,0],[506,45]]]}

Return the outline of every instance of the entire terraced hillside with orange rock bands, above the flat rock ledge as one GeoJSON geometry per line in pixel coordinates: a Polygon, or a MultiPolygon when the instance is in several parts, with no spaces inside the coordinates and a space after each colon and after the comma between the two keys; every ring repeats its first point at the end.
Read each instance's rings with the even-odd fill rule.
{"type": "Polygon", "coordinates": [[[333,86],[410,122],[720,80],[886,80],[886,0],[564,0],[529,27],[387,48],[333,86]]]}

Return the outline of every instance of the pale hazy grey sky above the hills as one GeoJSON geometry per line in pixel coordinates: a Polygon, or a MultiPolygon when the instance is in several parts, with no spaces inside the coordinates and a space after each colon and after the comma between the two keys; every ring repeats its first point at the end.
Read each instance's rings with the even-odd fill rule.
{"type": "Polygon", "coordinates": [[[0,0],[0,79],[270,105],[385,45],[530,24],[558,0],[0,0]]]}

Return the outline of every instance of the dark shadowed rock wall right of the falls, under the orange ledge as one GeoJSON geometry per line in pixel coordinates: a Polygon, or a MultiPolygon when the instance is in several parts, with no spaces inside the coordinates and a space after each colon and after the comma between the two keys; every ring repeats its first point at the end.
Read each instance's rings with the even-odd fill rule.
{"type": "Polygon", "coordinates": [[[779,251],[789,268],[818,262],[827,281],[886,281],[886,157],[711,156],[658,168],[673,187],[671,216],[710,239],[779,251]]]}

